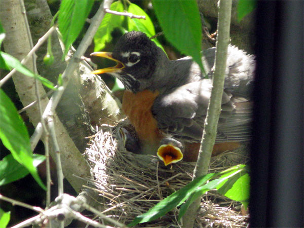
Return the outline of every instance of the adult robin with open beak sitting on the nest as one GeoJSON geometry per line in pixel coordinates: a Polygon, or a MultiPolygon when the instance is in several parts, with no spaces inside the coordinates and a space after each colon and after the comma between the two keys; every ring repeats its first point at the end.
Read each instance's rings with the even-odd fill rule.
{"type": "MultiPolygon", "coordinates": [[[[215,48],[202,51],[206,75],[191,57],[169,60],[139,31],[125,33],[112,53],[91,55],[117,63],[92,73],[109,73],[124,84],[122,109],[135,128],[140,153],[158,151],[165,165],[182,158],[195,161],[211,95],[215,48]]],[[[214,153],[250,140],[254,68],[254,56],[229,46],[214,153]]]]}

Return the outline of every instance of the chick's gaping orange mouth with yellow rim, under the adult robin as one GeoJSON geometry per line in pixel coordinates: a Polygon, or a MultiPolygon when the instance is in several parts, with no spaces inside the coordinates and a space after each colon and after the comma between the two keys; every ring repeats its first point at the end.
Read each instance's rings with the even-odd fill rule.
{"type": "Polygon", "coordinates": [[[183,158],[181,150],[170,144],[161,145],[157,150],[157,156],[165,163],[165,166],[177,163],[183,158]]]}

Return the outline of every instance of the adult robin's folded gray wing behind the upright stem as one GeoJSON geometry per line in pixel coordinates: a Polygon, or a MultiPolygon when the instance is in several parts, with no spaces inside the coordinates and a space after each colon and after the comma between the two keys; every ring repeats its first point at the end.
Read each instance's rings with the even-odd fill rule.
{"type": "MultiPolygon", "coordinates": [[[[203,80],[159,96],[152,107],[159,128],[176,138],[199,141],[210,94],[211,80],[203,80]]],[[[224,91],[221,108],[216,142],[248,140],[251,120],[248,100],[224,91]]]]}

